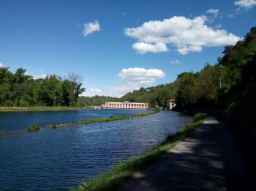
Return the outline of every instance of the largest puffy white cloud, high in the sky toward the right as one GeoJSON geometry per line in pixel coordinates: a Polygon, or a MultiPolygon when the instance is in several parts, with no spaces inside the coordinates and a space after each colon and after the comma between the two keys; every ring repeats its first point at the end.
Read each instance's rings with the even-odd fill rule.
{"type": "MultiPolygon", "coordinates": [[[[210,9],[209,12],[217,14],[217,10],[210,9]]],[[[164,21],[149,21],[141,27],[125,28],[124,33],[128,37],[138,40],[133,44],[137,53],[160,53],[166,52],[168,44],[177,48],[180,54],[200,52],[203,46],[225,46],[235,44],[239,37],[226,30],[214,30],[205,22],[206,16],[197,18],[185,18],[174,16],[164,21]]]]}

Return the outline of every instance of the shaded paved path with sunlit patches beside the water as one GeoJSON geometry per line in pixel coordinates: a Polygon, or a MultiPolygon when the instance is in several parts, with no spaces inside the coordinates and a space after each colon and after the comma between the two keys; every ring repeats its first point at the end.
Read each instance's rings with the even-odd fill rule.
{"type": "Polygon", "coordinates": [[[167,152],[122,190],[254,190],[234,138],[206,114],[192,135],[167,152]]]}

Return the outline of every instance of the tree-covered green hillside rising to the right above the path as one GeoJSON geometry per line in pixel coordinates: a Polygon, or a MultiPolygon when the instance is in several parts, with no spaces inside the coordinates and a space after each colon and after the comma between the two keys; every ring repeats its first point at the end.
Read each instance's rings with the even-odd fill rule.
{"type": "Polygon", "coordinates": [[[225,46],[224,56],[200,72],[183,72],[176,81],[125,94],[120,101],[145,102],[149,107],[166,107],[177,99],[179,107],[222,110],[249,119],[256,116],[256,27],[234,46],[225,46]]]}

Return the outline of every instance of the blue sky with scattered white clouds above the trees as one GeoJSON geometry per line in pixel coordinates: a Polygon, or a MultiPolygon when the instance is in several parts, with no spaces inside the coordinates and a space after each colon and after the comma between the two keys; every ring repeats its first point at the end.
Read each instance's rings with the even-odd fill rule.
{"type": "Polygon", "coordinates": [[[0,0],[0,67],[34,78],[75,72],[83,95],[121,97],[214,65],[255,26],[255,8],[256,0],[0,0]]]}

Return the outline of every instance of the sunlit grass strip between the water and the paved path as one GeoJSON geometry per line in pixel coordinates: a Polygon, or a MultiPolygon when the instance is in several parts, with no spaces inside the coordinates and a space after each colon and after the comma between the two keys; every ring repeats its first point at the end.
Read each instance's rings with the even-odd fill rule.
{"type": "Polygon", "coordinates": [[[182,142],[190,135],[201,123],[205,117],[202,113],[193,113],[193,122],[181,129],[175,135],[168,136],[164,142],[161,142],[154,149],[146,151],[145,154],[130,158],[127,161],[117,164],[109,171],[102,173],[98,177],[92,178],[88,183],[83,182],[77,189],[70,190],[115,190],[122,186],[122,183],[128,181],[135,173],[144,170],[148,165],[156,161],[165,154],[170,148],[173,148],[179,142],[182,142]]]}

